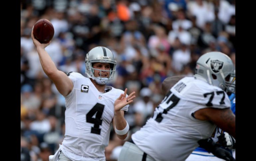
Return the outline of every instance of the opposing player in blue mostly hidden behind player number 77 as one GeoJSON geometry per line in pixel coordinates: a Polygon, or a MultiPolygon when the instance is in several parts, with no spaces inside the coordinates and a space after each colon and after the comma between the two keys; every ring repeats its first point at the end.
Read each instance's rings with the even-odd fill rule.
{"type": "MultiPolygon", "coordinates": [[[[172,77],[166,78],[162,83],[163,94],[166,95],[168,91],[179,80],[181,80],[184,77],[185,76],[172,76],[172,77]]],[[[235,79],[235,77],[233,78],[231,77],[230,79],[233,80],[235,79]]],[[[229,96],[230,103],[231,103],[231,110],[235,114],[234,112],[235,107],[232,108],[234,98],[235,98],[234,94],[231,94],[229,96]]],[[[228,147],[229,149],[234,148],[235,140],[227,132],[224,132],[220,136],[218,136],[220,131],[223,131],[223,130],[221,130],[219,127],[216,127],[216,129],[214,130],[214,134],[215,134],[214,137],[199,140],[198,144],[200,146],[192,151],[192,153],[189,155],[186,161],[223,161],[223,159],[227,161],[234,161],[235,160],[233,158],[234,155],[232,156],[230,151],[227,149],[224,149],[224,147],[228,147]],[[218,143],[216,143],[216,141],[218,141],[218,143]],[[205,149],[207,149],[208,151],[205,149]]]]}

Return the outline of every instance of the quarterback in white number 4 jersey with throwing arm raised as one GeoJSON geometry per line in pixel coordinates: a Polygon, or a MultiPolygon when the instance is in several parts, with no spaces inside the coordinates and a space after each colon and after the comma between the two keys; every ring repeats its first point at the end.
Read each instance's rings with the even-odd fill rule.
{"type": "Polygon", "coordinates": [[[104,161],[111,123],[120,139],[125,139],[129,125],[124,111],[135,98],[125,91],[106,86],[113,79],[116,61],[106,47],[95,47],[86,55],[86,75],[57,69],[45,51],[49,43],[40,43],[31,33],[46,75],[65,97],[65,138],[50,161],[104,161]]]}

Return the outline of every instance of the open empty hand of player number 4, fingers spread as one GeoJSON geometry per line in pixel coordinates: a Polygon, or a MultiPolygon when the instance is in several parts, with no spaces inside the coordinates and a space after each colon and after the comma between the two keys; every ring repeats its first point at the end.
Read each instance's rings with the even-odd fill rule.
{"type": "Polygon", "coordinates": [[[120,111],[123,107],[133,102],[133,99],[136,96],[133,96],[135,92],[132,92],[129,96],[126,97],[127,88],[124,90],[124,93],[121,94],[114,103],[115,111],[120,111]]]}

